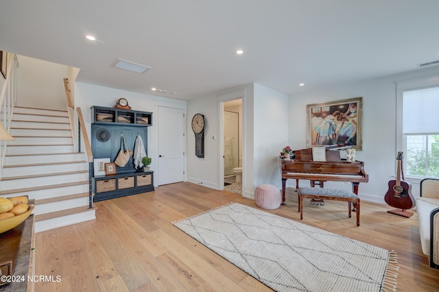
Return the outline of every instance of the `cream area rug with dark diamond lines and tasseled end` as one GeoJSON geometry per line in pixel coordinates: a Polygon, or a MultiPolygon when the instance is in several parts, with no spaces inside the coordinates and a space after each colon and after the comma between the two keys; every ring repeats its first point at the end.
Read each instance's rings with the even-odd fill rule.
{"type": "Polygon", "coordinates": [[[395,291],[396,253],[238,203],[173,222],[276,291],[395,291]]]}

